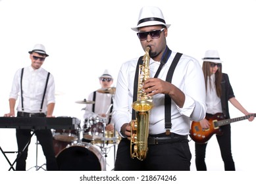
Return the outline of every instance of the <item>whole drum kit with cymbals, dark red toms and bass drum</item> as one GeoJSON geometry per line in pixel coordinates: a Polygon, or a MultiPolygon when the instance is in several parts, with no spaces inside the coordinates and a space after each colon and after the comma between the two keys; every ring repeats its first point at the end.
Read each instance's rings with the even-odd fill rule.
{"type": "MultiPolygon", "coordinates": [[[[99,89],[98,92],[115,95],[115,87],[99,89]]],[[[76,103],[93,104],[95,102],[84,99],[76,103]]],[[[116,131],[105,130],[106,117],[90,112],[86,108],[82,110],[85,110],[84,124],[80,124],[78,129],[54,129],[52,131],[53,147],[59,170],[106,170],[107,154],[113,147],[115,164],[116,145],[121,137],[116,131]]],[[[108,115],[111,116],[111,114],[108,115]]]]}

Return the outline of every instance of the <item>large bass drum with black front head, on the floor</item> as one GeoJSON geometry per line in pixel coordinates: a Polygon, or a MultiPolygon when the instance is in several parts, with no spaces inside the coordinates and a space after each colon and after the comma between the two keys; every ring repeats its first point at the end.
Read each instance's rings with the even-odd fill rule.
{"type": "Polygon", "coordinates": [[[67,145],[56,158],[60,171],[105,170],[105,157],[90,143],[67,145]]]}

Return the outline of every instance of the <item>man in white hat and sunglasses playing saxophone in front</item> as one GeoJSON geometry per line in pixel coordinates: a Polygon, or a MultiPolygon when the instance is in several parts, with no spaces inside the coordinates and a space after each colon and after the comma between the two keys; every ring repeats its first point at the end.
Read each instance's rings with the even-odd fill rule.
{"type": "Polygon", "coordinates": [[[147,156],[143,160],[130,154],[134,121],[132,104],[138,96],[140,58],[124,62],[118,73],[113,108],[113,122],[122,137],[116,152],[115,170],[190,170],[192,154],[188,145],[190,121],[205,117],[205,83],[197,60],[176,53],[166,45],[170,24],[161,9],[143,7],[137,32],[141,47],[149,51],[149,78],[143,81],[143,92],[152,97],[149,114],[147,156]]]}

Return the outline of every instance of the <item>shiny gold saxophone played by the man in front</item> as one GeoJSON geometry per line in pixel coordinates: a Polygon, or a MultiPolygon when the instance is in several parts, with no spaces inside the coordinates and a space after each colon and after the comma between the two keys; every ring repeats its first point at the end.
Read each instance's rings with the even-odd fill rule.
{"type": "Polygon", "coordinates": [[[153,108],[152,98],[147,97],[142,87],[145,80],[149,78],[149,51],[146,47],[143,56],[143,64],[140,64],[138,77],[138,96],[137,101],[132,103],[132,108],[136,111],[136,120],[131,122],[131,158],[144,160],[147,156],[147,137],[149,135],[149,110],[153,108]]]}

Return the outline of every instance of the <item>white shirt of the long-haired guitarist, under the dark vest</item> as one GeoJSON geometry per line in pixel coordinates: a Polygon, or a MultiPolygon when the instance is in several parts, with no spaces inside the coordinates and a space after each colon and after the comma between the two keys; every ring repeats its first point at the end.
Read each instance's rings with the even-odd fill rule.
{"type": "Polygon", "coordinates": [[[216,114],[218,112],[222,112],[220,97],[218,97],[216,93],[215,74],[212,74],[207,78],[206,93],[207,113],[216,114]]]}

